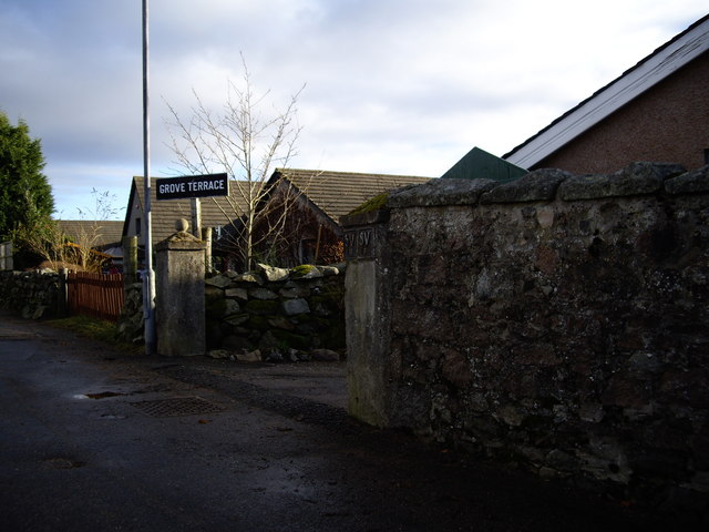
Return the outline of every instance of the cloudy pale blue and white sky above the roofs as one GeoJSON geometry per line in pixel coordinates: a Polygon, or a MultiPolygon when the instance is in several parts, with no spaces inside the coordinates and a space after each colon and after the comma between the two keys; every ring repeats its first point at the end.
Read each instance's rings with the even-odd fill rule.
{"type": "MultiPolygon", "coordinates": [[[[143,173],[141,0],[3,0],[0,111],[42,141],[56,217],[143,173]]],[[[439,176],[502,155],[707,13],[706,0],[150,0],[152,174],[166,102],[218,110],[243,53],[265,114],[297,100],[290,166],[439,176]]]]}

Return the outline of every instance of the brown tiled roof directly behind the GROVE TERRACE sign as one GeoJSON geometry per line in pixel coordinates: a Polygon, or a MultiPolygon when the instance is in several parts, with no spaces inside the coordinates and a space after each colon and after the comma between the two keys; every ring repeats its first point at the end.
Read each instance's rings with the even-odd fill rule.
{"type": "MultiPolygon", "coordinates": [[[[181,218],[192,218],[191,200],[155,200],[156,177],[151,177],[151,222],[153,242],[162,242],[175,233],[175,222],[181,218]]],[[[134,202],[133,190],[137,195],[141,212],[144,212],[144,188],[143,177],[133,177],[133,188],[131,202],[134,202]]],[[[229,224],[238,218],[244,212],[244,200],[235,186],[229,187],[230,196],[203,197],[202,204],[202,226],[218,227],[229,224]]],[[[131,204],[126,216],[130,216],[131,204]]],[[[127,218],[126,218],[127,219],[127,218]]],[[[124,229],[125,231],[125,229],[124,229]]]]}

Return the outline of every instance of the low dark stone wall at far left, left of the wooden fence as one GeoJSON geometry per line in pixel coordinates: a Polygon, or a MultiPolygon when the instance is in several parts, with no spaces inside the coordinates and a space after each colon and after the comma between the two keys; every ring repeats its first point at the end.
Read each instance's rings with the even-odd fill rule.
{"type": "Polygon", "coordinates": [[[28,319],[63,313],[55,272],[0,272],[0,306],[28,319]]]}

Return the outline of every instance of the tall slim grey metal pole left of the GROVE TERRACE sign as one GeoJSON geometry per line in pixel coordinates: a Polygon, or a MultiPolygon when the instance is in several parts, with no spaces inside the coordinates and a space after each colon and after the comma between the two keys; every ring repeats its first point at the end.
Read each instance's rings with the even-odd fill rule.
{"type": "Polygon", "coordinates": [[[147,1],[143,0],[143,195],[145,197],[145,276],[143,277],[143,315],[145,316],[145,354],[155,352],[155,273],[153,272],[153,222],[151,215],[151,120],[148,99],[147,1]]]}

